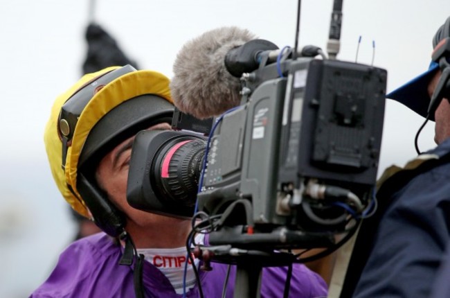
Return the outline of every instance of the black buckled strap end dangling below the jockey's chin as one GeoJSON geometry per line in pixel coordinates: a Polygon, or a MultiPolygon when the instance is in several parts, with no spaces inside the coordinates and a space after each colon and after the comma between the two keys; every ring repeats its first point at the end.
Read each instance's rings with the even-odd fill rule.
{"type": "Polygon", "coordinates": [[[142,284],[144,255],[138,254],[136,245],[134,245],[132,237],[129,236],[127,231],[124,230],[122,234],[120,234],[119,238],[125,242],[125,249],[123,250],[123,255],[122,258],[120,258],[119,265],[133,265],[134,256],[136,256],[137,260],[133,270],[134,293],[136,294],[136,298],[144,298],[144,288],[142,284]]]}

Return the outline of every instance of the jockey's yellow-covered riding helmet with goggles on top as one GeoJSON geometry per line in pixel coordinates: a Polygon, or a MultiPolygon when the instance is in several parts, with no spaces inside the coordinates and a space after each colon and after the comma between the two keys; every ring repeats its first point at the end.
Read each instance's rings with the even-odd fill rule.
{"type": "MultiPolygon", "coordinates": [[[[102,229],[110,229],[103,223],[109,215],[102,218],[102,210],[95,210],[110,203],[103,202],[108,200],[101,193],[93,195],[100,197],[94,198],[100,202],[88,202],[91,191],[82,191],[88,193],[85,195],[80,189],[95,193],[98,189],[86,182],[80,171],[139,130],[170,121],[172,103],[167,77],[156,71],[136,71],[129,65],[84,75],[57,97],[44,143],[57,187],[75,211],[94,219],[102,229]]],[[[116,231],[107,233],[116,236],[116,231]]]]}

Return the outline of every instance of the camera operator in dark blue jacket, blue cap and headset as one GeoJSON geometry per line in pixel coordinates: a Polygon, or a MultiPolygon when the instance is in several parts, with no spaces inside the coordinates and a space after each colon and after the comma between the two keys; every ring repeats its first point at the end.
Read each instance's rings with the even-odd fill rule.
{"type": "Polygon", "coordinates": [[[450,240],[449,41],[450,17],[433,38],[429,70],[387,96],[434,119],[438,146],[404,170],[389,169],[377,193],[389,206],[354,297],[429,297],[437,277],[450,240]]]}

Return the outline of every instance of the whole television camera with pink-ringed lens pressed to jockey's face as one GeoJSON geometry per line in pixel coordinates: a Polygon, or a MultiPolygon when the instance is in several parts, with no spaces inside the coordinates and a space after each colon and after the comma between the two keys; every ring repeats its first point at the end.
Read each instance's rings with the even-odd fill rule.
{"type": "Polygon", "coordinates": [[[316,46],[246,42],[224,58],[240,78],[240,105],[205,121],[177,110],[175,130],[134,141],[129,204],[193,218],[188,246],[195,233],[209,234],[195,254],[241,265],[251,295],[262,266],[298,261],[290,249],[329,254],[376,209],[387,73],[334,59],[341,6],[335,1],[329,58],[316,46]]]}

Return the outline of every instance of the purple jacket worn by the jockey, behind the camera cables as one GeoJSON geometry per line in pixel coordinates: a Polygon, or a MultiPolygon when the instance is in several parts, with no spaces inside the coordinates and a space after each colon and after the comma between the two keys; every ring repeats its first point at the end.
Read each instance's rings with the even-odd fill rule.
{"type": "MultiPolygon", "coordinates": [[[[118,265],[123,249],[104,233],[75,241],[60,255],[50,277],[30,297],[135,297],[133,270],[118,265]]],[[[228,265],[211,263],[212,271],[199,270],[204,297],[221,297],[228,265]]],[[[235,266],[227,283],[226,297],[234,295],[235,266]]],[[[287,268],[262,270],[261,297],[282,297],[287,268]]],[[[144,262],[145,297],[180,298],[170,281],[154,265],[144,262]]],[[[289,297],[317,298],[327,296],[325,281],[305,265],[294,264],[289,297]]],[[[197,286],[186,297],[199,297],[197,286]]]]}

